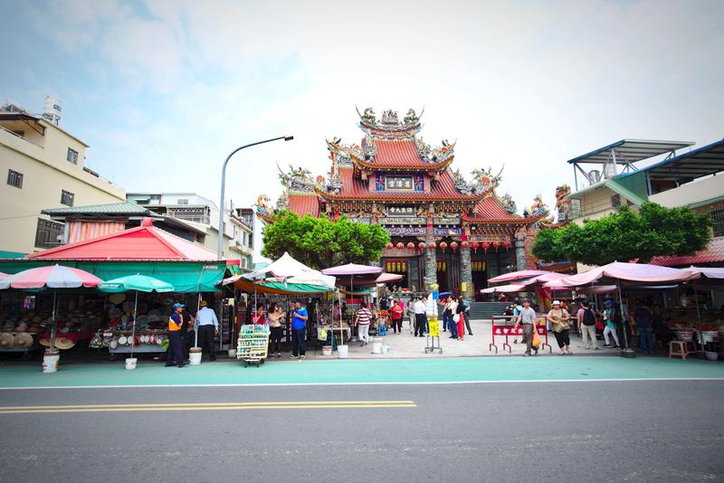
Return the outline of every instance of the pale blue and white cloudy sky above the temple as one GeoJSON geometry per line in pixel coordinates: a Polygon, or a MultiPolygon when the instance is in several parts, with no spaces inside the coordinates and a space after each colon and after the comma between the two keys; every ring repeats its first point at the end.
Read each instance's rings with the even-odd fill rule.
{"type": "Polygon", "coordinates": [[[0,0],[0,99],[90,144],[129,192],[281,193],[278,163],[329,171],[357,113],[424,107],[454,166],[497,173],[522,212],[573,185],[567,159],[624,137],[724,137],[724,2],[0,0]]]}

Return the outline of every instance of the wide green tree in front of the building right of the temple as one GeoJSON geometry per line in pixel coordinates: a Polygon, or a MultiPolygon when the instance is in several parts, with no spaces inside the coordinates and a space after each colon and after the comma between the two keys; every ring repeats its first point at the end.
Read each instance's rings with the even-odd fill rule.
{"type": "Polygon", "coordinates": [[[583,226],[538,232],[533,255],[543,261],[569,260],[586,265],[612,261],[638,260],[647,263],[658,256],[691,255],[703,250],[711,240],[711,218],[691,208],[665,208],[643,204],[639,213],[622,206],[598,220],[585,220],[583,226]]]}

